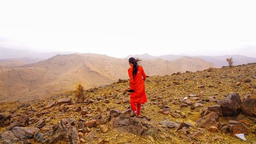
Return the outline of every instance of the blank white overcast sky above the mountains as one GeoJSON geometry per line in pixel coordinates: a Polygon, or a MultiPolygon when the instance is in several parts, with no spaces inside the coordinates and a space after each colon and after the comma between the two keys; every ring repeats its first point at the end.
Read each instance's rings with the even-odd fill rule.
{"type": "Polygon", "coordinates": [[[256,1],[2,1],[0,47],[256,57],[256,1]]]}

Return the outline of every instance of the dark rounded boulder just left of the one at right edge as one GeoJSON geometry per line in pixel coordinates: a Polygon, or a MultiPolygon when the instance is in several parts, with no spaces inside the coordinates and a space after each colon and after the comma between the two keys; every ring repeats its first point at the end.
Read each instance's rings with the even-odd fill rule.
{"type": "Polygon", "coordinates": [[[240,112],[240,105],[233,100],[221,102],[221,113],[223,116],[237,116],[240,112]]]}

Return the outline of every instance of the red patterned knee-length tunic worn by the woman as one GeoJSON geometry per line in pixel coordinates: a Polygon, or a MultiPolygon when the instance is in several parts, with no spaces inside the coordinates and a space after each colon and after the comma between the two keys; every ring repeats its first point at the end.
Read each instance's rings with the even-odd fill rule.
{"type": "Polygon", "coordinates": [[[130,89],[134,90],[134,92],[130,93],[130,101],[140,104],[147,102],[145,84],[143,81],[143,78],[146,79],[146,74],[142,66],[138,66],[135,78],[133,78],[133,66],[128,69],[128,74],[130,77],[130,89]]]}

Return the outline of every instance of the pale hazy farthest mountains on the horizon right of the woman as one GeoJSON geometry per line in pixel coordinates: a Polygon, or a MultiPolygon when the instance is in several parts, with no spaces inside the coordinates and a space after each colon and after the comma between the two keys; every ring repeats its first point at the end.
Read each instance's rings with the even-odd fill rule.
{"type": "MultiPolygon", "coordinates": [[[[152,56],[149,54],[142,54],[142,55],[129,55],[125,58],[130,58],[130,57],[136,57],[136,58],[140,58],[140,59],[158,59],[161,58],[163,60],[168,60],[168,61],[173,61],[173,60],[177,60],[181,57],[186,57],[186,56],[182,56],[182,55],[163,55],[163,56],[152,56]]],[[[201,58],[207,62],[211,62],[215,65],[217,65],[218,67],[222,67],[222,66],[227,66],[228,63],[226,61],[227,58],[233,58],[234,61],[234,65],[241,65],[241,64],[247,64],[247,63],[254,63],[256,62],[256,58],[252,58],[252,57],[246,57],[246,56],[242,56],[242,55],[223,55],[223,56],[193,56],[190,58],[201,58]]]]}

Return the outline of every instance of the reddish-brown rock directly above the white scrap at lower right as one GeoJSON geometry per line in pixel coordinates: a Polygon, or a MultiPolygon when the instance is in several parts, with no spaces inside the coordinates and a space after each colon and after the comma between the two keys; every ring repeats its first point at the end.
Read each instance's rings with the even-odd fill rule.
{"type": "Polygon", "coordinates": [[[228,127],[232,135],[239,134],[239,133],[243,133],[243,134],[249,133],[249,130],[245,126],[245,124],[237,121],[228,121],[228,127]]]}

